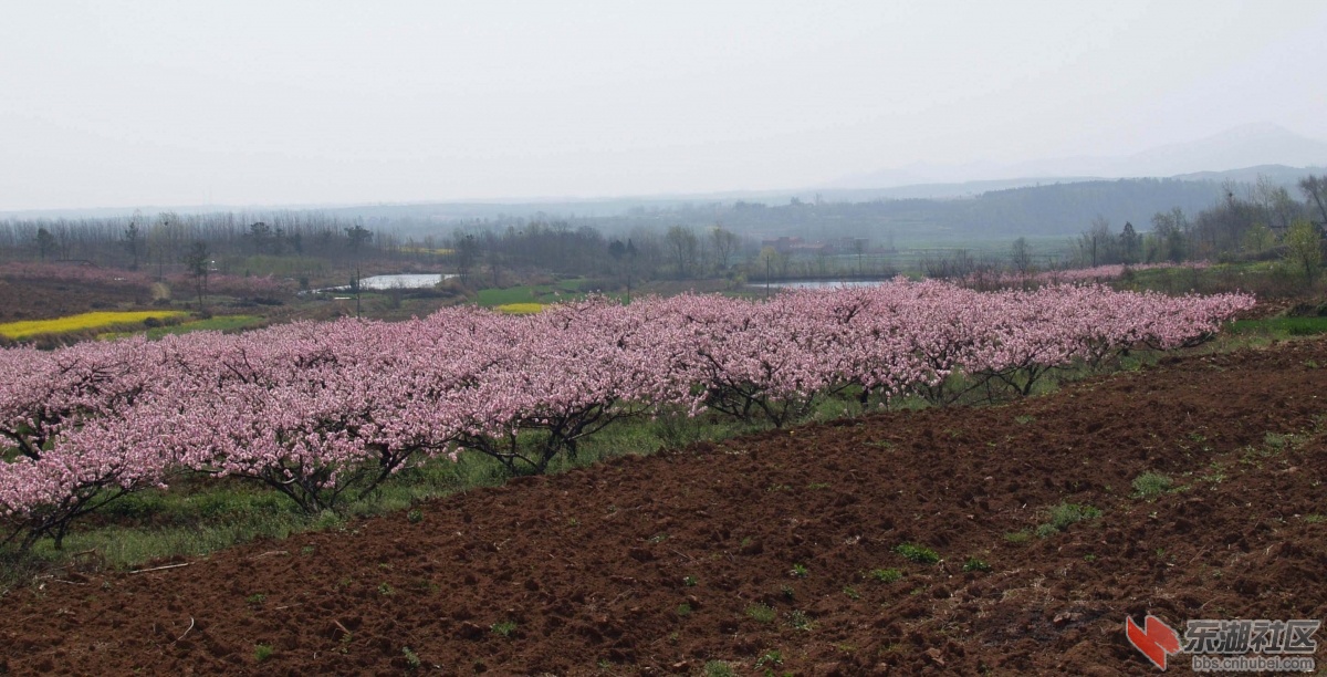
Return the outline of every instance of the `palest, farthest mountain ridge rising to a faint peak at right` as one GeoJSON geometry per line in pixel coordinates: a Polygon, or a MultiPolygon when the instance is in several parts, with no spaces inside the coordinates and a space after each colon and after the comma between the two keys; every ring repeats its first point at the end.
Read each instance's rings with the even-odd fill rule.
{"type": "MultiPolygon", "coordinates": [[[[1197,173],[1223,173],[1239,167],[1257,169],[1269,165],[1322,167],[1327,165],[1327,142],[1302,137],[1278,125],[1261,122],[1233,127],[1197,141],[1158,146],[1132,155],[1052,158],[1013,165],[991,162],[947,166],[914,163],[898,169],[844,177],[823,187],[827,190],[863,190],[892,188],[917,183],[963,183],[973,181],[1011,181],[1022,182],[1022,186],[1032,186],[1047,181],[1083,181],[1084,177],[1177,177],[1197,173]],[[1047,177],[1051,177],[1051,179],[1047,179],[1047,177]],[[1054,177],[1076,178],[1056,179],[1054,177]]],[[[1246,179],[1238,178],[1237,181],[1246,179]]]]}

